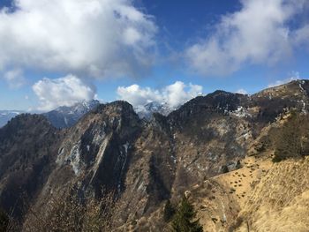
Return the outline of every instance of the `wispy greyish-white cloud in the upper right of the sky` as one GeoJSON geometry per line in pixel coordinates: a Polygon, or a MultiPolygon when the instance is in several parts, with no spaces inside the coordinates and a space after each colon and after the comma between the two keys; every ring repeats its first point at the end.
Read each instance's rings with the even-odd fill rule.
{"type": "Polygon", "coordinates": [[[289,26],[305,0],[241,0],[240,11],[222,17],[215,33],[186,49],[193,71],[227,75],[243,64],[276,64],[308,41],[308,25],[289,26]]]}

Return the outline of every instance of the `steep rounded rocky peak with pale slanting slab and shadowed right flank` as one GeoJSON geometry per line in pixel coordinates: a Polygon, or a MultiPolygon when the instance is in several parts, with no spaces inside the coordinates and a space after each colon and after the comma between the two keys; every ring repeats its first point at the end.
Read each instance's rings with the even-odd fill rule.
{"type": "Polygon", "coordinates": [[[84,188],[90,186],[97,194],[102,188],[120,192],[139,131],[139,116],[128,102],[101,104],[67,132],[58,150],[57,172],[70,168],[71,174],[66,175],[87,176],[84,188]]]}

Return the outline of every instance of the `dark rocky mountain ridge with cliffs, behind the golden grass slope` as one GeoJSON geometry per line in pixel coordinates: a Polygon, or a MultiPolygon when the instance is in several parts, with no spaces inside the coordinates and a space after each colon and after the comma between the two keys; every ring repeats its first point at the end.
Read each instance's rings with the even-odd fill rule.
{"type": "MultiPolygon", "coordinates": [[[[134,229],[135,221],[136,229],[151,230],[164,200],[197,184],[207,189],[200,185],[205,180],[244,166],[246,156],[261,150],[269,124],[290,109],[307,112],[308,93],[305,80],[252,96],[216,91],[148,121],[129,103],[115,101],[62,131],[41,116],[19,116],[0,129],[0,203],[9,211],[26,191],[32,206],[43,211],[64,186],[74,186],[80,197],[100,198],[108,190],[116,199],[115,229],[134,229]],[[151,217],[151,223],[140,224],[151,217]]],[[[212,191],[222,183],[209,184],[212,191]]],[[[224,186],[219,189],[229,196],[224,186]]],[[[228,201],[225,196],[218,204],[228,201]]],[[[226,217],[236,219],[236,213],[226,217]]]]}

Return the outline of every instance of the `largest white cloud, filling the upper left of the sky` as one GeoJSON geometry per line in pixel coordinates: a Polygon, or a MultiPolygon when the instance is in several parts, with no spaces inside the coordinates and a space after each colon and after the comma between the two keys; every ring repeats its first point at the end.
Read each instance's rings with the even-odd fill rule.
{"type": "Polygon", "coordinates": [[[131,0],[15,0],[0,9],[0,71],[95,78],[139,75],[152,63],[154,20],[131,0]]]}

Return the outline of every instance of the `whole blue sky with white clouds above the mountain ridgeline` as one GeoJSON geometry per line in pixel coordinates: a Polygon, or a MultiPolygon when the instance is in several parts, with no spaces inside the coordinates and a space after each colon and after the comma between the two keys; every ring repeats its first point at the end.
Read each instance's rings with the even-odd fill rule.
{"type": "Polygon", "coordinates": [[[0,0],[0,109],[177,108],[309,78],[306,0],[0,0]]]}

